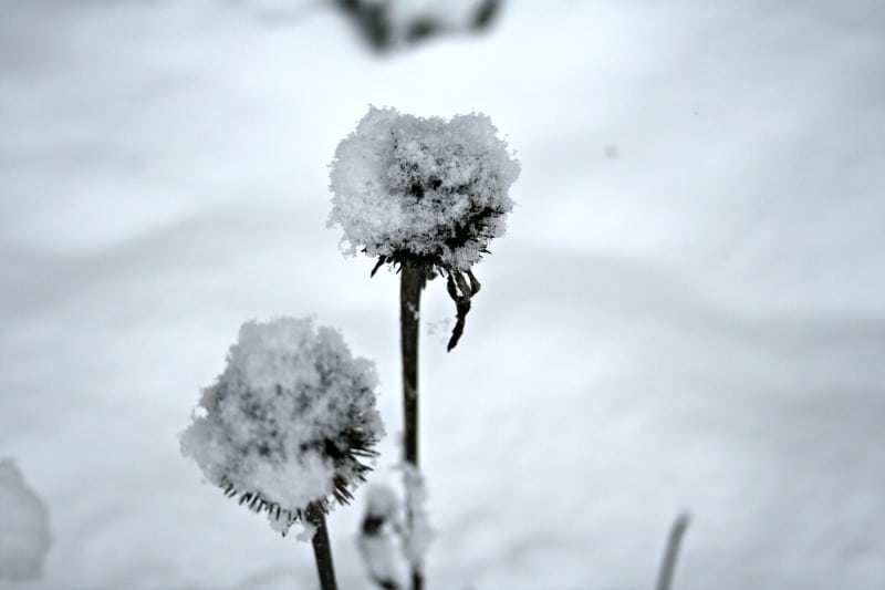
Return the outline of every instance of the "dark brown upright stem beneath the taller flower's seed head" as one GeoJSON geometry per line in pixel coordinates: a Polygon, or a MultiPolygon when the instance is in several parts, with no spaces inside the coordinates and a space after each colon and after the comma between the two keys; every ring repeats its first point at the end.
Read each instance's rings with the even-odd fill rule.
{"type": "MultiPolygon", "coordinates": [[[[399,283],[399,328],[403,350],[403,412],[405,415],[405,459],[418,468],[418,327],[421,290],[427,282],[427,269],[403,263],[399,283]]],[[[406,489],[406,494],[409,494],[406,489]]],[[[406,498],[406,527],[414,527],[410,498],[406,498]]],[[[424,573],[419,565],[412,567],[412,590],[421,590],[424,573]]]]}

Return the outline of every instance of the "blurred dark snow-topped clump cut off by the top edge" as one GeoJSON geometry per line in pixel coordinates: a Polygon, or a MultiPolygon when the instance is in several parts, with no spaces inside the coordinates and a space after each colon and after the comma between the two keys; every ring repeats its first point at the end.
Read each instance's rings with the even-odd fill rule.
{"type": "Polygon", "coordinates": [[[439,33],[485,31],[501,12],[502,0],[478,0],[466,18],[452,15],[449,2],[439,0],[420,11],[409,11],[408,0],[335,0],[378,52],[400,41],[413,44],[439,33]],[[447,8],[449,7],[449,8],[447,8]],[[403,10],[405,8],[405,10],[403,10]]]}

